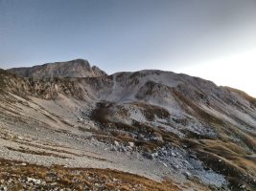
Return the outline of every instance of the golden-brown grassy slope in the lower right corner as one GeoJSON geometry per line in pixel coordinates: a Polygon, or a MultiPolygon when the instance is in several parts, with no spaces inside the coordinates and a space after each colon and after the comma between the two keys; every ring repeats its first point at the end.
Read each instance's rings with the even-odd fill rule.
{"type": "Polygon", "coordinates": [[[256,189],[255,156],[249,157],[243,148],[221,140],[186,139],[183,142],[196,152],[198,159],[224,175],[230,181],[231,190],[240,190],[242,184],[251,190],[256,189]]]}

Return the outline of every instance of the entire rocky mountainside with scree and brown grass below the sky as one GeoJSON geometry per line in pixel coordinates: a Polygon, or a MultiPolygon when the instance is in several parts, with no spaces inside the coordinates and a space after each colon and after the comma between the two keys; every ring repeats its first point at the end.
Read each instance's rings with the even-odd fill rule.
{"type": "Polygon", "coordinates": [[[256,98],[85,60],[0,70],[0,190],[256,190],[256,98]]]}

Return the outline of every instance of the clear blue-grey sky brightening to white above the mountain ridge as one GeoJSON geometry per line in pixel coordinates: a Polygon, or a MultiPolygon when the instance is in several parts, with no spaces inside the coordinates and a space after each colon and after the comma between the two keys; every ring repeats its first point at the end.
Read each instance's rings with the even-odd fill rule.
{"type": "Polygon", "coordinates": [[[256,0],[0,0],[0,68],[87,59],[256,97],[256,0]]]}

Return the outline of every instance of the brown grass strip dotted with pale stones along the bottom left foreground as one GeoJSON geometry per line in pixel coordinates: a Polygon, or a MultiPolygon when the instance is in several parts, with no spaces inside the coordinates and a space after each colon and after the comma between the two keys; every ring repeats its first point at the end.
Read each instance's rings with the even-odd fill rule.
{"type": "Polygon", "coordinates": [[[43,167],[19,161],[0,160],[0,180],[9,190],[180,190],[169,180],[157,182],[110,169],[43,167]],[[38,182],[29,182],[33,177],[38,182]],[[11,182],[11,183],[8,183],[11,182]]]}

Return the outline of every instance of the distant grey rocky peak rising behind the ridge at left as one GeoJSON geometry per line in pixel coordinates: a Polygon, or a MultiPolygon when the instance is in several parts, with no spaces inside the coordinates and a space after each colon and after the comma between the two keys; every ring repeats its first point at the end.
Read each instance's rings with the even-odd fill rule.
{"type": "Polygon", "coordinates": [[[91,67],[87,60],[76,59],[67,62],[48,63],[31,68],[14,68],[8,70],[18,74],[37,79],[54,77],[96,77],[105,75],[105,72],[94,66],[91,67]]]}

